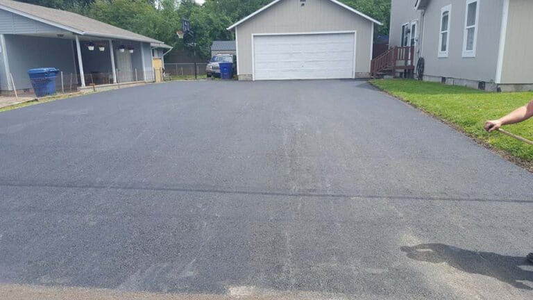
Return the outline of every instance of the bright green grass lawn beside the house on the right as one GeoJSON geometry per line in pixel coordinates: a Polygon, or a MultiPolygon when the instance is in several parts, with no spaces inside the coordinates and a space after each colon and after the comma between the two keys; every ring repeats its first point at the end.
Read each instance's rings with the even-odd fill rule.
{"type": "MultiPolygon", "coordinates": [[[[501,133],[487,133],[483,129],[487,119],[498,119],[533,99],[533,92],[483,92],[440,83],[387,79],[371,81],[376,87],[455,124],[464,132],[503,150],[528,165],[533,162],[533,146],[509,138],[501,133]]],[[[504,126],[505,130],[533,140],[533,120],[504,126]]]]}

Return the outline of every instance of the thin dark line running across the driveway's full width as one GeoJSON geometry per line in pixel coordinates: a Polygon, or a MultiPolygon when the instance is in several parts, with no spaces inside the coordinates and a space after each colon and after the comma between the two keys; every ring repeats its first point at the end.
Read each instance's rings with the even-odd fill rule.
{"type": "Polygon", "coordinates": [[[283,196],[283,197],[323,197],[323,198],[361,198],[361,199],[403,199],[403,200],[427,200],[427,201],[473,201],[473,202],[505,202],[505,203],[533,203],[533,200],[521,199],[483,199],[483,198],[450,198],[450,197],[417,197],[417,196],[390,196],[390,195],[368,195],[368,194],[335,194],[335,193],[314,193],[314,192],[267,192],[267,191],[247,191],[247,190],[222,190],[222,189],[201,189],[201,188],[164,188],[164,187],[128,187],[117,185],[53,185],[53,184],[12,184],[0,183],[0,187],[14,188],[73,188],[73,189],[94,189],[94,190],[147,190],[147,191],[167,191],[167,192],[199,192],[212,194],[250,194],[263,196],[283,196]]]}

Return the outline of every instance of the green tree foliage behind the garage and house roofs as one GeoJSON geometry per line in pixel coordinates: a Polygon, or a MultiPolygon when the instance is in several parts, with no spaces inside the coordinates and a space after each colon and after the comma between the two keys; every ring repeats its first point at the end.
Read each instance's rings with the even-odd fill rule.
{"type": "MultiPolygon", "coordinates": [[[[177,49],[194,48],[208,57],[213,40],[230,40],[226,28],[273,0],[20,0],[51,8],[70,10],[129,31],[161,40],[177,49]],[[188,19],[194,40],[178,40],[181,19],[188,19]]],[[[340,0],[366,15],[378,19],[377,35],[388,35],[391,0],[340,0]]]]}

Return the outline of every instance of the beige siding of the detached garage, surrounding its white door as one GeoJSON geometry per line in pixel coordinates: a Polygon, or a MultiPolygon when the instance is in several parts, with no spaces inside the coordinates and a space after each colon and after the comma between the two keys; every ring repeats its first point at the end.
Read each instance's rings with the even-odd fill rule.
{"type": "MultiPolygon", "coordinates": [[[[370,72],[372,22],[328,0],[284,0],[236,28],[239,78],[251,78],[252,34],[357,31],[356,74],[370,72]]],[[[364,75],[363,75],[364,76],[364,75]]]]}

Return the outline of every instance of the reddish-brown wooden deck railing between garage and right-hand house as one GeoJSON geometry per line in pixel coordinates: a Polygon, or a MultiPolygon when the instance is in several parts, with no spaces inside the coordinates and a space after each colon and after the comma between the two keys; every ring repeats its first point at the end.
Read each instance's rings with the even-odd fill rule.
{"type": "Polygon", "coordinates": [[[414,69],[414,47],[394,47],[382,55],[374,58],[371,62],[371,76],[390,71],[396,73],[397,69],[414,69]]]}

